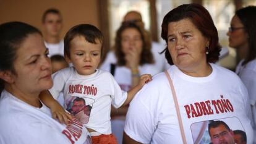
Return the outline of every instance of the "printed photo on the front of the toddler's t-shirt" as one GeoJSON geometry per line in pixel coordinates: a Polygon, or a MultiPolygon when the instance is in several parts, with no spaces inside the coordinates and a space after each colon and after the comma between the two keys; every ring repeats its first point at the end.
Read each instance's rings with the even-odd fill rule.
{"type": "Polygon", "coordinates": [[[91,98],[70,96],[65,101],[65,107],[70,114],[74,115],[82,124],[87,124],[90,118],[93,101],[91,98]]]}

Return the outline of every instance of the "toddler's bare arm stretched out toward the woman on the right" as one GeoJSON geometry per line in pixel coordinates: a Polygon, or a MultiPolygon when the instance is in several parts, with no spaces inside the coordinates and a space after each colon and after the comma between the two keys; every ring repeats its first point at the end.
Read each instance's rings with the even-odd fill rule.
{"type": "Polygon", "coordinates": [[[130,89],[127,94],[127,99],[124,101],[124,104],[122,106],[126,106],[127,104],[132,101],[134,98],[135,94],[145,85],[145,83],[148,83],[151,80],[151,75],[150,74],[144,74],[140,76],[140,82],[138,85],[136,85],[134,88],[130,89]]]}

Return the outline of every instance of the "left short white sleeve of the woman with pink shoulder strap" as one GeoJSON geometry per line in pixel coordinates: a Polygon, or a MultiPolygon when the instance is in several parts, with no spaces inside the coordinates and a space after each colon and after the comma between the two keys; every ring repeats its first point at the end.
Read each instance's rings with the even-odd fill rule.
{"type": "Polygon", "coordinates": [[[156,107],[153,108],[152,106],[156,106],[157,104],[148,103],[149,101],[155,101],[151,100],[151,92],[150,88],[145,85],[145,87],[135,95],[126,115],[124,132],[126,132],[130,138],[140,143],[150,143],[156,129],[156,107]],[[151,107],[148,108],[148,106],[151,107]],[[155,111],[153,109],[155,109],[155,111]]]}

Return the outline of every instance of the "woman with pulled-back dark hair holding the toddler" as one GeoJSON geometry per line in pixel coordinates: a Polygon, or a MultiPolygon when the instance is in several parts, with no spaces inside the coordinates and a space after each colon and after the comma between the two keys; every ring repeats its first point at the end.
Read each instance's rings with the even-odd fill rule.
{"type": "Polygon", "coordinates": [[[0,25],[0,143],[90,143],[77,119],[61,124],[39,100],[53,86],[41,32],[22,22],[0,25]]]}

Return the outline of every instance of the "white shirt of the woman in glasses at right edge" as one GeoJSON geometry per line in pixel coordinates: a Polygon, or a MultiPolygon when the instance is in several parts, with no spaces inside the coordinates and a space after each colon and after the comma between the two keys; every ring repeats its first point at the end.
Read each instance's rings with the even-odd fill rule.
{"type": "MultiPolygon", "coordinates": [[[[252,108],[252,121],[254,121],[254,133],[256,133],[256,59],[242,66],[240,61],[236,67],[236,74],[239,75],[248,90],[250,105],[252,108]]],[[[256,143],[256,138],[255,142],[256,143]]]]}

